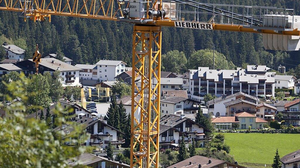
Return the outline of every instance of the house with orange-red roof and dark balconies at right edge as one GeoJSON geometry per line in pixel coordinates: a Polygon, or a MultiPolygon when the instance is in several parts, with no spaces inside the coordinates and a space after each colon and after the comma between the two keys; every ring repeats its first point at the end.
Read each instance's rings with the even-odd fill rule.
{"type": "Polygon", "coordinates": [[[300,126],[300,98],[284,104],[285,111],[282,111],[284,125],[300,126]]]}

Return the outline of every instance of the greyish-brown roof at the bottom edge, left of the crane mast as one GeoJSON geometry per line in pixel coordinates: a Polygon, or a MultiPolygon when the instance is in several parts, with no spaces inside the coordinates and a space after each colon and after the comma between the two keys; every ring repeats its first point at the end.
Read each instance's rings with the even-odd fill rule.
{"type": "Polygon", "coordinates": [[[117,164],[119,165],[119,167],[130,167],[130,165],[125,164],[125,163],[120,163],[118,161],[112,161],[112,160],[108,160],[108,158],[104,158],[102,156],[96,156],[93,155],[91,153],[83,153],[79,156],[76,156],[74,158],[70,158],[68,160],[66,160],[67,164],[71,167],[74,167],[76,165],[82,165],[82,166],[88,166],[90,164],[94,164],[97,163],[99,161],[108,161],[108,162],[112,162],[113,164],[117,164]]]}

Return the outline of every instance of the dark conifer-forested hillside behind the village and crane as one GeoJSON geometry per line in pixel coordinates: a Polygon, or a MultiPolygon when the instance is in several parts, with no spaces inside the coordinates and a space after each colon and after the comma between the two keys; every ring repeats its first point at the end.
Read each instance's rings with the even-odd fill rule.
{"type": "MultiPolygon", "coordinates": [[[[295,9],[296,14],[300,13],[298,0],[201,0],[201,2],[286,7],[295,9]]],[[[205,19],[205,16],[203,17],[205,19]]],[[[18,18],[17,13],[0,11],[0,42],[7,41],[19,45],[27,51],[28,58],[32,56],[37,43],[43,55],[62,51],[65,56],[74,60],[74,64],[93,64],[99,59],[119,59],[131,66],[132,24],[62,16],[52,16],[51,21],[51,23],[24,22],[22,18],[18,18]]],[[[197,67],[192,60],[201,62],[199,60],[209,59],[210,56],[202,58],[205,51],[198,54],[194,51],[212,49],[213,45],[216,46],[216,51],[221,53],[220,66],[216,65],[217,68],[234,68],[244,63],[244,65],[267,65],[275,69],[281,64],[289,69],[295,68],[300,63],[299,51],[288,53],[265,51],[262,47],[261,34],[164,27],[162,44],[163,54],[178,50],[183,52],[181,56],[187,58],[184,67],[176,71],[197,67]],[[226,65],[221,63],[223,57],[227,59],[226,65]]],[[[210,63],[204,65],[211,66],[210,63]]],[[[168,67],[166,63],[164,67],[168,67]]]]}

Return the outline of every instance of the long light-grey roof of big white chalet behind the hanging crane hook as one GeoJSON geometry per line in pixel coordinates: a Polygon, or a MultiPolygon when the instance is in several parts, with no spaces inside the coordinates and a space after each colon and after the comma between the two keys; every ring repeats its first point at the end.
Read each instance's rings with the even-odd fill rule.
{"type": "MultiPolygon", "coordinates": [[[[28,59],[29,61],[32,61],[32,59],[28,59]]],[[[22,61],[21,61],[22,62],[22,61]]],[[[33,61],[32,61],[33,62],[33,61]]],[[[55,58],[42,58],[40,65],[53,69],[54,71],[58,70],[63,72],[63,71],[80,71],[82,70],[81,68],[77,68],[76,66],[67,64],[65,62],[62,62],[58,59],[55,58]],[[52,63],[54,61],[54,63],[52,63]]]]}

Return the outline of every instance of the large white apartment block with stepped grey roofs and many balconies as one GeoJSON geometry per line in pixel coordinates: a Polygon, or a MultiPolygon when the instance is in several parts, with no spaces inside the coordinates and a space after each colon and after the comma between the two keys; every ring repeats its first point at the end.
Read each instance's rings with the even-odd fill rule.
{"type": "Polygon", "coordinates": [[[205,94],[220,97],[244,92],[253,96],[274,97],[275,73],[267,72],[265,65],[247,65],[247,69],[236,70],[209,69],[199,67],[189,70],[189,97],[202,101],[205,94]]]}

